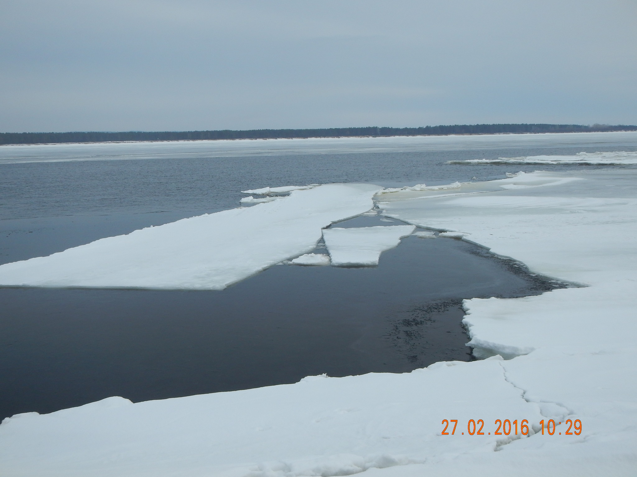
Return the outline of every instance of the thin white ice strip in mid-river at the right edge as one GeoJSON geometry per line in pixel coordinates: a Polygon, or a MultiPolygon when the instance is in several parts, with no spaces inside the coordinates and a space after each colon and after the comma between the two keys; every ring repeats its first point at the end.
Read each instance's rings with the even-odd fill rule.
{"type": "Polygon", "coordinates": [[[578,153],[574,156],[523,156],[499,157],[497,159],[471,159],[447,161],[448,164],[575,164],[575,165],[622,165],[637,164],[637,152],[617,151],[612,153],[578,153]]]}

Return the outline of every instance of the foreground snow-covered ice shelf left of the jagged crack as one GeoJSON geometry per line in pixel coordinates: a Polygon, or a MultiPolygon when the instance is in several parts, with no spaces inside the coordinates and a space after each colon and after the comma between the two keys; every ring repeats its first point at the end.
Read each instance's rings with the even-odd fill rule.
{"type": "MultiPolygon", "coordinates": [[[[335,476],[494,450],[496,436],[441,436],[441,420],[524,416],[538,406],[501,361],[132,404],[111,397],[0,425],[3,477],[335,476]]],[[[501,438],[501,437],[499,437],[501,438]]]]}

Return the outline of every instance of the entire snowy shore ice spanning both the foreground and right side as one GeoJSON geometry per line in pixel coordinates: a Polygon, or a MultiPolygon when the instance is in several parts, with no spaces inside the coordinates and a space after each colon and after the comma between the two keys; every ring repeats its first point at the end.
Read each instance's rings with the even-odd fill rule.
{"type": "MultiPolygon", "coordinates": [[[[369,210],[373,188],[328,190],[326,207],[343,207],[329,218],[369,210]]],[[[470,363],[17,415],[0,425],[0,474],[634,476],[637,171],[537,172],[381,197],[390,217],[573,287],[466,300],[469,345],[481,358],[470,363]]],[[[308,232],[295,247],[316,239],[308,232]]]]}

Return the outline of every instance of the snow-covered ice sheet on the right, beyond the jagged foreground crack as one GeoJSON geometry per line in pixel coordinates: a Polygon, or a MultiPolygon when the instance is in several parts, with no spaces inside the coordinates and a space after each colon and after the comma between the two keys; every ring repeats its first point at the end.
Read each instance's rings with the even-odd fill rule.
{"type": "MultiPolygon", "coordinates": [[[[582,420],[582,436],[568,441],[557,435],[566,431],[562,424],[556,436],[536,434],[503,452],[427,467],[427,474],[471,468],[486,475],[525,462],[529,475],[543,469],[549,475],[634,475],[636,185],[635,170],[538,172],[463,184],[459,192],[466,195],[454,197],[398,193],[382,206],[408,223],[468,233],[464,240],[519,259],[536,273],[589,285],[464,303],[475,354],[510,358],[501,362],[508,382],[541,406],[545,418],[582,420]]],[[[417,475],[415,468],[410,472],[402,475],[417,475]]]]}

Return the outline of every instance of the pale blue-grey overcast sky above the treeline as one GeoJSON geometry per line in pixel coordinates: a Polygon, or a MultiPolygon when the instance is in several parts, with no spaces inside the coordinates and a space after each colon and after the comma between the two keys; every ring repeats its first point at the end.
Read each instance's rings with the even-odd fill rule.
{"type": "Polygon", "coordinates": [[[0,132],[637,124],[636,0],[0,0],[0,132]]]}

